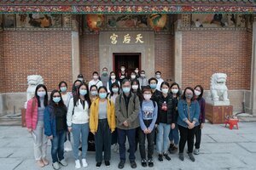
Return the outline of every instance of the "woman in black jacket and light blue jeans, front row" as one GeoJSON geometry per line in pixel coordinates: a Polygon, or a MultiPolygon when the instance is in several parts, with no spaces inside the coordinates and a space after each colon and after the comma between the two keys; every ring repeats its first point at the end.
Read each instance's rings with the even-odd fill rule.
{"type": "Polygon", "coordinates": [[[171,160],[171,157],[168,156],[168,147],[169,147],[169,133],[171,128],[175,128],[175,117],[176,117],[176,105],[175,101],[172,98],[172,95],[169,94],[170,85],[168,82],[162,82],[160,85],[161,95],[157,101],[158,105],[158,116],[156,121],[156,127],[158,130],[156,137],[156,148],[158,151],[158,160],[163,161],[163,156],[166,157],[167,161],[171,160]]]}

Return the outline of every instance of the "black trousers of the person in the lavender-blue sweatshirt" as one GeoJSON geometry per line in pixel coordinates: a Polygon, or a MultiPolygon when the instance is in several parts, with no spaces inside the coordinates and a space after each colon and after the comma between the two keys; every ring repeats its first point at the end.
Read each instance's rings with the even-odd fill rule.
{"type": "MultiPolygon", "coordinates": [[[[146,127],[149,127],[150,121],[144,121],[146,127]]],[[[145,140],[148,140],[148,159],[152,159],[154,154],[154,129],[151,133],[145,134],[142,128],[139,128],[139,146],[140,146],[140,154],[142,159],[146,159],[146,150],[145,150],[145,140]]]]}

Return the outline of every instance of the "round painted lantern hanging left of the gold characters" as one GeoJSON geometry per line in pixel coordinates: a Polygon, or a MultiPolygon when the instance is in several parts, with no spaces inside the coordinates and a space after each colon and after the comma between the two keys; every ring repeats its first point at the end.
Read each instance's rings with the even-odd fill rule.
{"type": "Polygon", "coordinates": [[[103,14],[88,14],[86,15],[87,25],[90,31],[100,31],[104,26],[104,15],[103,14]]]}

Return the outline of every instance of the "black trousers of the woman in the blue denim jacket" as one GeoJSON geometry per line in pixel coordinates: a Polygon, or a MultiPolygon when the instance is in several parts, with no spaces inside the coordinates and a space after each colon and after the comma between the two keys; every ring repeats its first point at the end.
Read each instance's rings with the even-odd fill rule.
{"type": "Polygon", "coordinates": [[[178,125],[178,129],[180,133],[180,140],[178,144],[179,153],[183,153],[186,142],[188,142],[189,153],[192,153],[195,139],[195,127],[189,129],[188,127],[178,125]]]}

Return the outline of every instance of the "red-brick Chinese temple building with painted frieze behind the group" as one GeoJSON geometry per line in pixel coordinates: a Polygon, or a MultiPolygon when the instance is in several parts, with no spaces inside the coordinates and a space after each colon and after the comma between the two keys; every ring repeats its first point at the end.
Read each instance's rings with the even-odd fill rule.
{"type": "Polygon", "coordinates": [[[120,65],[206,95],[224,72],[234,111],[256,114],[254,14],[256,0],[2,0],[0,115],[24,106],[28,75],[71,90],[120,65]]]}

